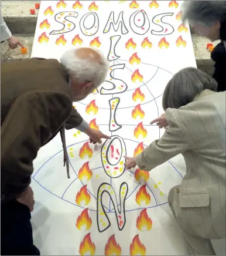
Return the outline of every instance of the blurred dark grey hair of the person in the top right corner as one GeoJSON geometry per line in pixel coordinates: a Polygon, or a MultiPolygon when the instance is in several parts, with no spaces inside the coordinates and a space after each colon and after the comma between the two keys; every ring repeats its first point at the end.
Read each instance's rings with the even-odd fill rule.
{"type": "Polygon", "coordinates": [[[226,19],[226,1],[184,1],[182,11],[183,23],[188,20],[213,26],[215,22],[226,19]]]}

